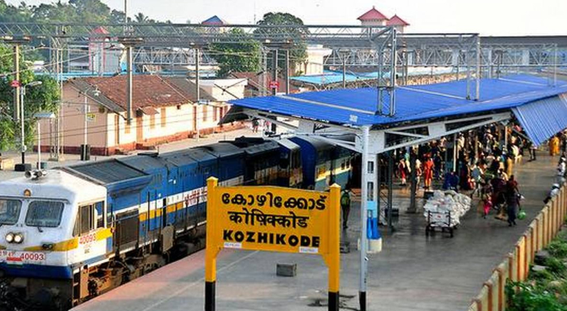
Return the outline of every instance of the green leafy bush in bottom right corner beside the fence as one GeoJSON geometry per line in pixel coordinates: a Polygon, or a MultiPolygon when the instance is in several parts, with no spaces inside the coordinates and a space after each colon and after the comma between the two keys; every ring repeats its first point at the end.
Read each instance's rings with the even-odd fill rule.
{"type": "Polygon", "coordinates": [[[555,294],[528,283],[509,281],[505,291],[509,311],[567,311],[555,294]]]}

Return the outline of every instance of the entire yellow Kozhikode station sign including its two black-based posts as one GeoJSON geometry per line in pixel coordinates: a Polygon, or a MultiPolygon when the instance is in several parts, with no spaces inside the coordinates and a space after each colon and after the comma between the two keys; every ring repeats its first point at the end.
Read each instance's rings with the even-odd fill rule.
{"type": "Polygon", "coordinates": [[[330,192],[272,186],[218,187],[207,180],[205,311],[215,310],[223,248],[319,254],[328,267],[328,310],[339,310],[340,186],[330,192]]]}

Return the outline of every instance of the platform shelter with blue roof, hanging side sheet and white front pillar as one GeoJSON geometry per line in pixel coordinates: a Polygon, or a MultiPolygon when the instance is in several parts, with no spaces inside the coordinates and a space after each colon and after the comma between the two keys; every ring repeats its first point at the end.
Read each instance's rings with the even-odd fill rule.
{"type": "Polygon", "coordinates": [[[567,128],[567,82],[534,75],[481,79],[478,100],[467,98],[469,88],[461,80],[396,86],[393,92],[346,88],[248,97],[232,101],[234,106],[223,121],[242,115],[268,120],[296,135],[315,135],[362,153],[360,295],[361,310],[365,310],[366,220],[377,216],[369,207],[379,204],[375,187],[379,170],[374,168],[380,153],[510,120],[520,124],[535,145],[567,128]],[[395,100],[390,101],[391,95],[395,100]],[[343,140],[345,133],[354,133],[355,140],[343,140]]]}

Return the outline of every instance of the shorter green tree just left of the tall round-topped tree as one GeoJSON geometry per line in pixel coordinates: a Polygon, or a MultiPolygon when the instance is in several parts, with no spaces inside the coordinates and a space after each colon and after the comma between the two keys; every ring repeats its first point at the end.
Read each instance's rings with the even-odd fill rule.
{"type": "Polygon", "coordinates": [[[229,34],[242,39],[233,44],[212,45],[211,55],[219,62],[216,75],[226,77],[232,72],[259,71],[261,47],[258,41],[245,35],[241,28],[233,28],[229,34]]]}

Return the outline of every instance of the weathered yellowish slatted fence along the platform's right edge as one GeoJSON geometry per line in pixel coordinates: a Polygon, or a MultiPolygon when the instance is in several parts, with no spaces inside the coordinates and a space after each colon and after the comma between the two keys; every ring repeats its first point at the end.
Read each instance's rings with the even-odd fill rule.
{"type": "Polygon", "coordinates": [[[548,246],[565,222],[567,189],[564,184],[557,196],[532,220],[526,232],[514,245],[514,250],[492,271],[481,292],[472,300],[467,311],[506,310],[505,285],[508,280],[526,281],[535,254],[548,246]]]}

